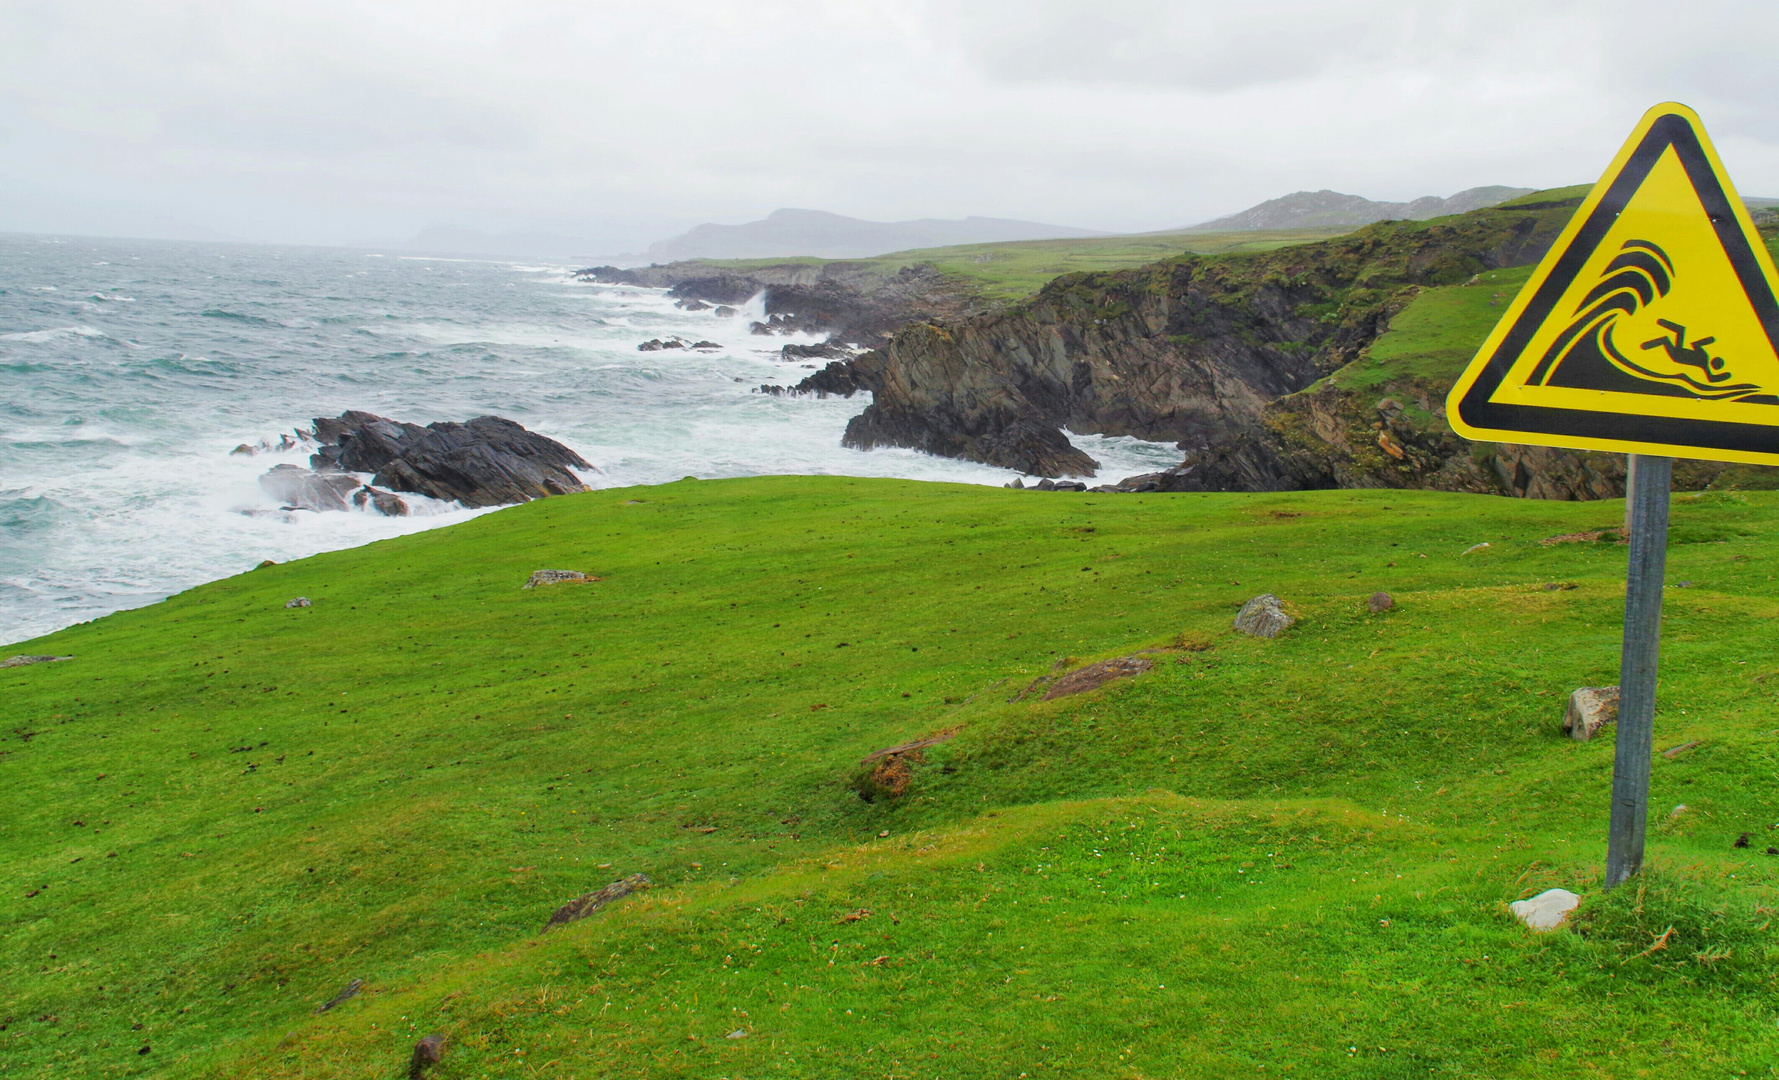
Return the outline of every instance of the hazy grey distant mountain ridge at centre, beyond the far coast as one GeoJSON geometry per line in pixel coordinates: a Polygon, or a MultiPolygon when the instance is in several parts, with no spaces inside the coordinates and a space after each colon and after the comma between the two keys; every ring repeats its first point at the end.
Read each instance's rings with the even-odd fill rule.
{"type": "Polygon", "coordinates": [[[701,224],[687,233],[651,244],[649,262],[685,258],[870,258],[911,247],[950,247],[952,244],[994,244],[1003,240],[1064,240],[1105,237],[1035,221],[1005,217],[964,217],[918,221],[861,221],[825,210],[774,210],[763,221],[745,224],[701,224]]]}

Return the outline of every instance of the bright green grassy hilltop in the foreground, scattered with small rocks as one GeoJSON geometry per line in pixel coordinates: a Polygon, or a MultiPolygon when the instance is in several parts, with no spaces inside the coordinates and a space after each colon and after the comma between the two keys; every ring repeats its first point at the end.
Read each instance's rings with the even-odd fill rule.
{"type": "Polygon", "coordinates": [[[1624,548],[1541,541],[1621,512],[688,480],[16,646],[75,660],[0,671],[0,1076],[1772,1075],[1779,496],[1676,498],[1697,746],[1603,895],[1624,548]]]}

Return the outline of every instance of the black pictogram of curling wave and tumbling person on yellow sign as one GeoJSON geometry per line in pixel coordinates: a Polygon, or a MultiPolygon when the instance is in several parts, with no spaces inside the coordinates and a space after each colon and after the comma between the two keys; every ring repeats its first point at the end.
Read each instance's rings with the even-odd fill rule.
{"type": "Polygon", "coordinates": [[[1665,333],[1638,343],[1631,359],[1619,347],[1615,331],[1624,318],[1649,308],[1674,290],[1674,262],[1649,240],[1626,240],[1599,274],[1599,285],[1576,304],[1576,317],[1557,334],[1526,379],[1528,386],[1617,390],[1706,400],[1736,400],[1765,395],[1754,383],[1738,383],[1729,361],[1713,356],[1711,334],[1686,342],[1679,322],[1656,318],[1665,333]],[[1663,363],[1665,361],[1665,363],[1663,363]]]}

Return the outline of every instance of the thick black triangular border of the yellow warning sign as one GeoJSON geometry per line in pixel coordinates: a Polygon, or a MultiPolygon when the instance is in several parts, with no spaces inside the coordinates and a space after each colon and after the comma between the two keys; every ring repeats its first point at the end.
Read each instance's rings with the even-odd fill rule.
{"type": "MultiPolygon", "coordinates": [[[[1742,454],[1779,454],[1779,427],[1765,423],[1596,413],[1589,409],[1558,409],[1489,400],[1489,395],[1507,379],[1509,368],[1512,368],[1539,326],[1550,317],[1551,308],[1567,292],[1574,276],[1582,272],[1589,256],[1599,247],[1606,231],[1630,205],[1631,196],[1637,194],[1637,189],[1642,187],[1649,171],[1654,169],[1669,146],[1674,148],[1681,165],[1686,169],[1686,180],[1692,181],[1699,203],[1717,230],[1717,240],[1722,244],[1724,254],[1729,256],[1729,263],[1742,281],[1742,292],[1747,294],[1749,302],[1754,306],[1754,315],[1767,331],[1767,340],[1774,345],[1774,352],[1779,354],[1779,301],[1774,299],[1767,274],[1761,270],[1761,263],[1749,246],[1749,237],[1742,230],[1742,222],[1729,203],[1729,196],[1724,192],[1724,185],[1717,178],[1717,171],[1699,144],[1697,132],[1694,132],[1686,117],[1670,112],[1656,119],[1649,126],[1649,132],[1644,133],[1637,149],[1624,162],[1624,167],[1612,178],[1606,194],[1594,206],[1594,212],[1589,214],[1580,231],[1569,242],[1569,247],[1558,256],[1550,276],[1539,285],[1532,302],[1514,320],[1512,329],[1507,331],[1507,336],[1501,338],[1494,354],[1489,356],[1484,370],[1464,393],[1464,400],[1459,402],[1459,418],[1464,423],[1489,432],[1571,436],[1742,454]]],[[[1685,457],[1685,454],[1679,455],[1685,457]]]]}

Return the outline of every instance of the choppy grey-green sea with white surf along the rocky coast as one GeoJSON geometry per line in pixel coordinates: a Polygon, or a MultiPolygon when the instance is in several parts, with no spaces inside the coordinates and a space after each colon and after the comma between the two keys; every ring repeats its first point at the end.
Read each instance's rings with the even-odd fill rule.
{"type": "MultiPolygon", "coordinates": [[[[1005,484],[911,450],[845,450],[868,395],[776,399],[806,372],[747,333],[758,310],[681,311],[571,267],[370,251],[0,235],[0,644],[199,582],[477,511],[283,514],[256,477],[306,452],[240,443],[368,409],[495,413],[560,439],[594,488],[696,475],[838,473],[1005,484]],[[715,352],[637,352],[648,338],[715,352]]],[[[1103,477],[1179,452],[1076,438],[1103,477]]]]}

